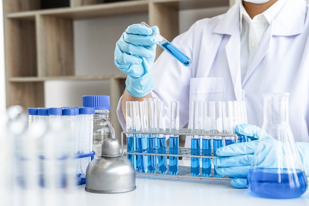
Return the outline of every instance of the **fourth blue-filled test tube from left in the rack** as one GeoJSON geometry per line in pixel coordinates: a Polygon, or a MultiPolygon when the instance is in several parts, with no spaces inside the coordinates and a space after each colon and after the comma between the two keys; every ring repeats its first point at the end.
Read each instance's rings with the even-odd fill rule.
{"type": "MultiPolygon", "coordinates": [[[[156,102],[156,117],[157,117],[157,130],[165,131],[165,114],[164,103],[156,102]]],[[[156,138],[156,147],[158,154],[166,154],[166,136],[159,134],[156,138]]],[[[158,171],[160,174],[167,173],[167,157],[158,156],[158,171]]]]}

